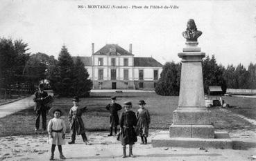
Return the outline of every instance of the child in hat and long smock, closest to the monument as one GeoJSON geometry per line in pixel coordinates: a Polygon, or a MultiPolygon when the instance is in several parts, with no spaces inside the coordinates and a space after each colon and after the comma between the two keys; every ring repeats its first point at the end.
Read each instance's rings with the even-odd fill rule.
{"type": "Polygon", "coordinates": [[[146,102],[144,100],[139,101],[139,109],[136,112],[137,116],[137,135],[142,138],[141,144],[147,144],[148,140],[148,128],[151,123],[151,117],[148,113],[148,110],[145,108],[146,102]]]}

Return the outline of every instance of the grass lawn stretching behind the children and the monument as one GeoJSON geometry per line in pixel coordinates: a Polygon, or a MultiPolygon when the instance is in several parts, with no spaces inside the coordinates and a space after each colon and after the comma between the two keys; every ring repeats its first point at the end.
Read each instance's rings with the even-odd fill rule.
{"type": "MultiPolygon", "coordinates": [[[[83,121],[87,131],[106,131],[109,129],[109,113],[105,110],[105,106],[110,103],[112,95],[117,96],[117,103],[121,105],[123,102],[131,101],[133,103],[133,111],[137,111],[137,108],[139,108],[137,104],[139,100],[145,100],[146,108],[151,113],[150,129],[168,130],[172,124],[172,113],[178,106],[178,97],[175,96],[160,96],[155,93],[92,93],[90,97],[80,99],[80,106],[87,106],[87,111],[83,114],[83,121]]],[[[242,97],[223,97],[223,100],[231,106],[243,108],[244,113],[240,111],[240,114],[253,116],[251,113],[256,99],[248,102],[244,101],[242,97]]],[[[66,123],[67,114],[72,105],[71,98],[56,98],[53,103],[53,106],[60,106],[65,111],[65,115],[62,118],[66,123]]],[[[223,113],[219,108],[210,108],[210,110],[212,111],[212,122],[214,122],[216,129],[227,129],[228,131],[232,129],[256,129],[253,124],[229,113],[223,113]]],[[[237,109],[233,108],[229,108],[229,110],[235,113],[238,112],[237,109]]],[[[47,122],[50,119],[51,117],[47,116],[47,122]]],[[[35,134],[34,124],[35,116],[33,107],[31,107],[0,118],[0,136],[33,135],[35,134]]],[[[67,124],[67,131],[69,131],[69,124],[67,124]]]]}

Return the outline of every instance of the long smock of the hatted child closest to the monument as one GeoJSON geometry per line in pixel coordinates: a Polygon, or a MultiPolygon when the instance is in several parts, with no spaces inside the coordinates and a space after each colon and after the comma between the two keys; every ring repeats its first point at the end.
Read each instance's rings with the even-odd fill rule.
{"type": "Polygon", "coordinates": [[[151,123],[151,117],[146,108],[139,108],[136,112],[137,116],[137,135],[148,137],[148,128],[151,123]]]}

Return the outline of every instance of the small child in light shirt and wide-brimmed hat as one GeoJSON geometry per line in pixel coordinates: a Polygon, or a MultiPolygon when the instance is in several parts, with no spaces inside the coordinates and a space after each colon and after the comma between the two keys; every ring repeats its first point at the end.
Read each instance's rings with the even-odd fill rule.
{"type": "Polygon", "coordinates": [[[65,133],[66,133],[66,124],[64,120],[60,118],[62,111],[60,108],[51,108],[49,111],[50,115],[54,115],[54,118],[49,121],[48,124],[48,133],[49,133],[49,143],[51,144],[51,158],[54,160],[54,151],[56,145],[58,145],[60,159],[66,159],[62,153],[62,144],[65,144],[65,133]]]}

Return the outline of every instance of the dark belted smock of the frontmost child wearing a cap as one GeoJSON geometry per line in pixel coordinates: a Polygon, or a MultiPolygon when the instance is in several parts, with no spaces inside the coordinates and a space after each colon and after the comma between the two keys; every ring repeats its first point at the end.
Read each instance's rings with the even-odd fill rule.
{"type": "Polygon", "coordinates": [[[122,145],[134,144],[137,142],[137,135],[135,132],[135,126],[137,124],[137,118],[135,112],[126,111],[121,114],[120,126],[121,135],[120,141],[122,145]]]}

